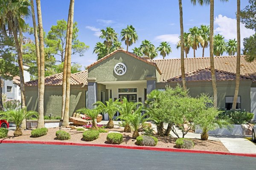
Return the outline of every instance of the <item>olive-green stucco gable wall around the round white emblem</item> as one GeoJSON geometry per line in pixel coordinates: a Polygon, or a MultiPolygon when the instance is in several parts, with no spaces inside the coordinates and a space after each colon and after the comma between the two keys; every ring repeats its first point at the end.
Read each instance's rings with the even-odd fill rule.
{"type": "Polygon", "coordinates": [[[153,65],[123,52],[118,52],[89,68],[88,77],[96,78],[96,82],[145,80],[147,76],[159,77],[156,72],[157,70],[153,65]],[[114,72],[114,67],[119,62],[124,63],[127,68],[126,73],[122,76],[118,76],[114,72]]]}

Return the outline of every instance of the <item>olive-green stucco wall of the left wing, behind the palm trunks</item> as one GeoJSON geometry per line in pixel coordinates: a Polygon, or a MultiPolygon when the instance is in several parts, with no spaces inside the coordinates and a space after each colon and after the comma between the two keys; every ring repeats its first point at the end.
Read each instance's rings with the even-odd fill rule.
{"type": "MultiPolygon", "coordinates": [[[[71,85],[70,91],[70,111],[73,112],[81,107],[85,107],[86,88],[81,85],[71,85]]],[[[28,110],[37,111],[38,109],[38,90],[37,86],[26,86],[26,105],[28,110]]],[[[61,116],[62,86],[45,86],[44,93],[44,115],[61,116]]]]}

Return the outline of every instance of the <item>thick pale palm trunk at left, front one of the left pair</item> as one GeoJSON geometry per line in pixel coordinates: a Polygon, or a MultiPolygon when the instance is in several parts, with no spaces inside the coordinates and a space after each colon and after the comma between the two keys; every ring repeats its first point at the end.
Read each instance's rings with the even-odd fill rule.
{"type": "Polygon", "coordinates": [[[44,127],[44,31],[41,14],[41,2],[36,0],[38,15],[38,32],[39,32],[39,52],[40,52],[40,84],[38,97],[38,125],[37,128],[44,127]]]}

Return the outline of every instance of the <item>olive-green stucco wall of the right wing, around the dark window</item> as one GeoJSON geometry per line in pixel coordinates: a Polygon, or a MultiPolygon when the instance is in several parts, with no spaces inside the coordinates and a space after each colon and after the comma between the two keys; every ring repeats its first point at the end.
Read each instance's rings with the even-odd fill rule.
{"type": "MultiPolygon", "coordinates": [[[[212,82],[186,82],[191,96],[196,97],[201,93],[213,96],[212,82]]],[[[166,85],[175,87],[177,83],[157,83],[156,88],[163,89],[166,85]]],[[[182,82],[180,82],[182,84],[182,82]]],[[[225,96],[234,96],[235,81],[218,81],[218,107],[225,108],[225,96]]],[[[239,96],[241,96],[241,110],[250,112],[250,86],[251,81],[240,81],[239,96]]]]}

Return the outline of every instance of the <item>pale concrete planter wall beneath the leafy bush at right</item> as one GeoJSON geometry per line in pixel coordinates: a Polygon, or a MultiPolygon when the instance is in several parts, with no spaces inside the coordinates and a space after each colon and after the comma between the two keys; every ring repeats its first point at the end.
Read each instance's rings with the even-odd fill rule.
{"type": "MultiPolygon", "coordinates": [[[[226,128],[218,128],[215,130],[210,130],[208,134],[243,136],[249,134],[250,132],[248,131],[250,131],[248,125],[233,125],[233,128],[231,128],[230,131],[226,128]]],[[[195,133],[202,133],[202,130],[196,128],[195,133]]]]}

